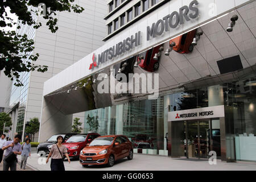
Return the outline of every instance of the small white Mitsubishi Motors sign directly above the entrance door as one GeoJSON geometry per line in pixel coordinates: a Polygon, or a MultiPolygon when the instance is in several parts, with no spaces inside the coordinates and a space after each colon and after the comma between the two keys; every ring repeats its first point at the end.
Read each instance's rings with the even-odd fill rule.
{"type": "Polygon", "coordinates": [[[168,113],[168,121],[184,121],[225,117],[224,105],[172,111],[168,113]]]}

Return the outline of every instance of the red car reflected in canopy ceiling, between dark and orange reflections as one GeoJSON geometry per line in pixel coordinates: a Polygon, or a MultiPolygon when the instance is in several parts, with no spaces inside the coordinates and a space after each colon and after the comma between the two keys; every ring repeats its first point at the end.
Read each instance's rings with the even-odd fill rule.
{"type": "MultiPolygon", "coordinates": [[[[160,60],[160,51],[159,48],[163,47],[162,45],[156,46],[152,49],[147,50],[146,52],[143,52],[141,54],[138,55],[137,60],[138,62],[141,61],[141,63],[139,63],[139,66],[148,71],[148,72],[154,72],[156,71],[156,69],[159,68],[159,60],[160,60]],[[158,54],[158,59],[154,59],[155,54],[158,54]],[[143,57],[141,60],[141,56],[143,57]]],[[[163,51],[163,50],[162,50],[163,51]]]]}

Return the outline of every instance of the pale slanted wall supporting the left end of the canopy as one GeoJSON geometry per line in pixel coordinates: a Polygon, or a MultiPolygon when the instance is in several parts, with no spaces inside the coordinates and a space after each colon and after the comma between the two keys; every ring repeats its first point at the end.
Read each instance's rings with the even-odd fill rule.
{"type": "MultiPolygon", "coordinates": [[[[64,101],[65,99],[60,102],[60,105],[64,101]]],[[[51,100],[43,98],[39,142],[44,142],[55,134],[70,133],[72,130],[72,117],[72,114],[65,115],[61,113],[60,109],[57,109],[51,100]]]]}

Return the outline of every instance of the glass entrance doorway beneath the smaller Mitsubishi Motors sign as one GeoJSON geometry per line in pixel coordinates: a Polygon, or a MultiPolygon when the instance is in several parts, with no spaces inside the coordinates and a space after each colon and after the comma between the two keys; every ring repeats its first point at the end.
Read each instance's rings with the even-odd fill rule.
{"type": "Polygon", "coordinates": [[[220,156],[220,129],[212,129],[212,119],[172,122],[172,156],[208,158],[209,151],[220,156]]]}

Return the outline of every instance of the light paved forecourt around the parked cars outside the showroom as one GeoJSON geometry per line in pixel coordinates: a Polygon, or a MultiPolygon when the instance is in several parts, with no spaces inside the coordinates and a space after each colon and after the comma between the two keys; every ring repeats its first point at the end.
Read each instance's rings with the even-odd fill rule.
{"type": "MultiPolygon", "coordinates": [[[[19,156],[20,158],[20,156],[19,156]]],[[[32,153],[27,159],[27,164],[34,170],[51,170],[49,160],[40,158],[32,153]]],[[[113,167],[89,166],[83,168],[77,159],[71,159],[69,164],[64,161],[66,171],[256,171],[256,163],[225,163],[217,160],[216,165],[210,165],[208,160],[168,158],[167,156],[134,154],[133,160],[121,159],[115,162],[113,167]]]]}

